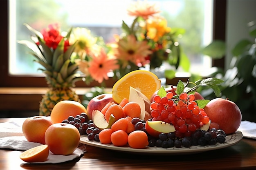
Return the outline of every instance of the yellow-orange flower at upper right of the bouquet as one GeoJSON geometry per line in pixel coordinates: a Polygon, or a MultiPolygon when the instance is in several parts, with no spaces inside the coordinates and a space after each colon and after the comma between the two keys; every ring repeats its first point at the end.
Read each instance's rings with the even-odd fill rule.
{"type": "Polygon", "coordinates": [[[147,20],[147,36],[157,42],[165,33],[169,33],[171,28],[167,26],[166,19],[162,17],[149,18],[147,20]]]}

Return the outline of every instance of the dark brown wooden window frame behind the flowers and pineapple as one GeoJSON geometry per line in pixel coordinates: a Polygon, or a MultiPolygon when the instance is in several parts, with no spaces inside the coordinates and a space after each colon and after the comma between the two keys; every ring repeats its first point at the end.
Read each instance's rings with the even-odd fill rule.
{"type": "MultiPolygon", "coordinates": [[[[225,40],[225,23],[226,23],[226,0],[213,0],[213,40],[225,40]],[[218,11],[218,12],[217,12],[218,11]]],[[[11,76],[8,74],[8,56],[9,56],[9,0],[0,1],[0,9],[2,15],[0,20],[2,26],[0,31],[2,36],[0,38],[1,52],[0,56],[0,87],[47,87],[45,77],[36,76],[11,76]]],[[[219,60],[213,60],[212,66],[224,68],[225,57],[219,60]]],[[[177,77],[179,78],[179,77],[177,77]]],[[[106,87],[111,87],[114,80],[110,79],[106,83],[106,87]]],[[[92,82],[86,85],[84,82],[76,82],[76,87],[92,87],[100,86],[97,82],[92,82]]]]}

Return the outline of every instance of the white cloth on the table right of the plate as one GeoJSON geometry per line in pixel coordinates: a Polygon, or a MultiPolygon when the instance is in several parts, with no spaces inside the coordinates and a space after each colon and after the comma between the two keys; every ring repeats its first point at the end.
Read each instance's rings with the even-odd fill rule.
{"type": "Polygon", "coordinates": [[[242,121],[238,128],[243,134],[243,137],[256,139],[256,123],[250,121],[242,121]]]}

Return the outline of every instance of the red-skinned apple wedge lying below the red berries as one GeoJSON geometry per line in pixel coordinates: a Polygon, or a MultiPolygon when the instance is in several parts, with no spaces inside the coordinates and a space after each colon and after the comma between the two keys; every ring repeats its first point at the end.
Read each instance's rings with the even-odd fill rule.
{"type": "Polygon", "coordinates": [[[146,121],[145,128],[149,135],[159,137],[160,133],[175,132],[175,127],[162,120],[159,121],[146,121]]]}

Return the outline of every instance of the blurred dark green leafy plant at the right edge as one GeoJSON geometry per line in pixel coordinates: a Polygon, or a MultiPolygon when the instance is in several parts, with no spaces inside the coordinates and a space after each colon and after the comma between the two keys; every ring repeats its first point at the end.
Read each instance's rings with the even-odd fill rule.
{"type": "MultiPolygon", "coordinates": [[[[216,72],[215,76],[224,80],[220,86],[221,97],[228,97],[235,102],[245,115],[243,117],[248,116],[252,121],[256,121],[256,115],[252,111],[256,110],[256,24],[254,22],[251,22],[249,35],[252,36],[252,40],[240,40],[231,50],[234,57],[227,71],[216,72]]],[[[214,98],[213,90],[209,88],[203,89],[201,94],[206,99],[214,98]]]]}

